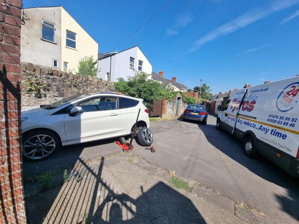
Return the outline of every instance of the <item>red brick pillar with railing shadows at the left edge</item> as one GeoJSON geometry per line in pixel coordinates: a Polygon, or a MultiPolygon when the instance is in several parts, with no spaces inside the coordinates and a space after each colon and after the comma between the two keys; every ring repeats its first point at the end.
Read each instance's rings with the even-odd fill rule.
{"type": "Polygon", "coordinates": [[[0,224],[26,223],[20,126],[21,0],[0,0],[0,224]]]}

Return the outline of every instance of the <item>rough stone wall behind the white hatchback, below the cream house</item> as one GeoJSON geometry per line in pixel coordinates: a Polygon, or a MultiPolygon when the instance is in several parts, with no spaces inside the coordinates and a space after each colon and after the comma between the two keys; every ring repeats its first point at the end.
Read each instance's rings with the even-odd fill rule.
{"type": "Polygon", "coordinates": [[[21,76],[22,107],[48,104],[81,93],[114,91],[113,82],[107,82],[97,77],[58,71],[31,63],[21,64],[21,76]],[[37,91],[30,90],[30,87],[33,89],[36,86],[41,88],[37,91]]]}

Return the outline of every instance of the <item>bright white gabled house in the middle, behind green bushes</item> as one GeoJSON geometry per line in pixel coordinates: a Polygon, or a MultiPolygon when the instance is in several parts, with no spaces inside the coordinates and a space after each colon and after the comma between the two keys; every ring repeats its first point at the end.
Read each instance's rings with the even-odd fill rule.
{"type": "Polygon", "coordinates": [[[117,81],[134,76],[136,71],[151,74],[151,64],[138,46],[121,52],[109,52],[98,55],[98,78],[106,81],[117,81]]]}

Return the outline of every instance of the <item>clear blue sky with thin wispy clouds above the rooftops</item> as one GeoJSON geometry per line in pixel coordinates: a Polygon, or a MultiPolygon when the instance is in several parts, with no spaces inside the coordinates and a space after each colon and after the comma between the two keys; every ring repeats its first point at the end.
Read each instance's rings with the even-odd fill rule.
{"type": "Polygon", "coordinates": [[[57,5],[99,52],[138,45],[153,72],[188,88],[202,79],[224,93],[299,74],[299,0],[23,0],[57,5]]]}

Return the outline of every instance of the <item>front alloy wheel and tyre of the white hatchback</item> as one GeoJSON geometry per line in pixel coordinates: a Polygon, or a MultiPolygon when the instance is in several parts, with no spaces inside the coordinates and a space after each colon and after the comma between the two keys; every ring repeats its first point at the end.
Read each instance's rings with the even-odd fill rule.
{"type": "Polygon", "coordinates": [[[23,156],[32,161],[45,159],[60,146],[57,135],[47,130],[34,130],[22,136],[23,156]]]}

